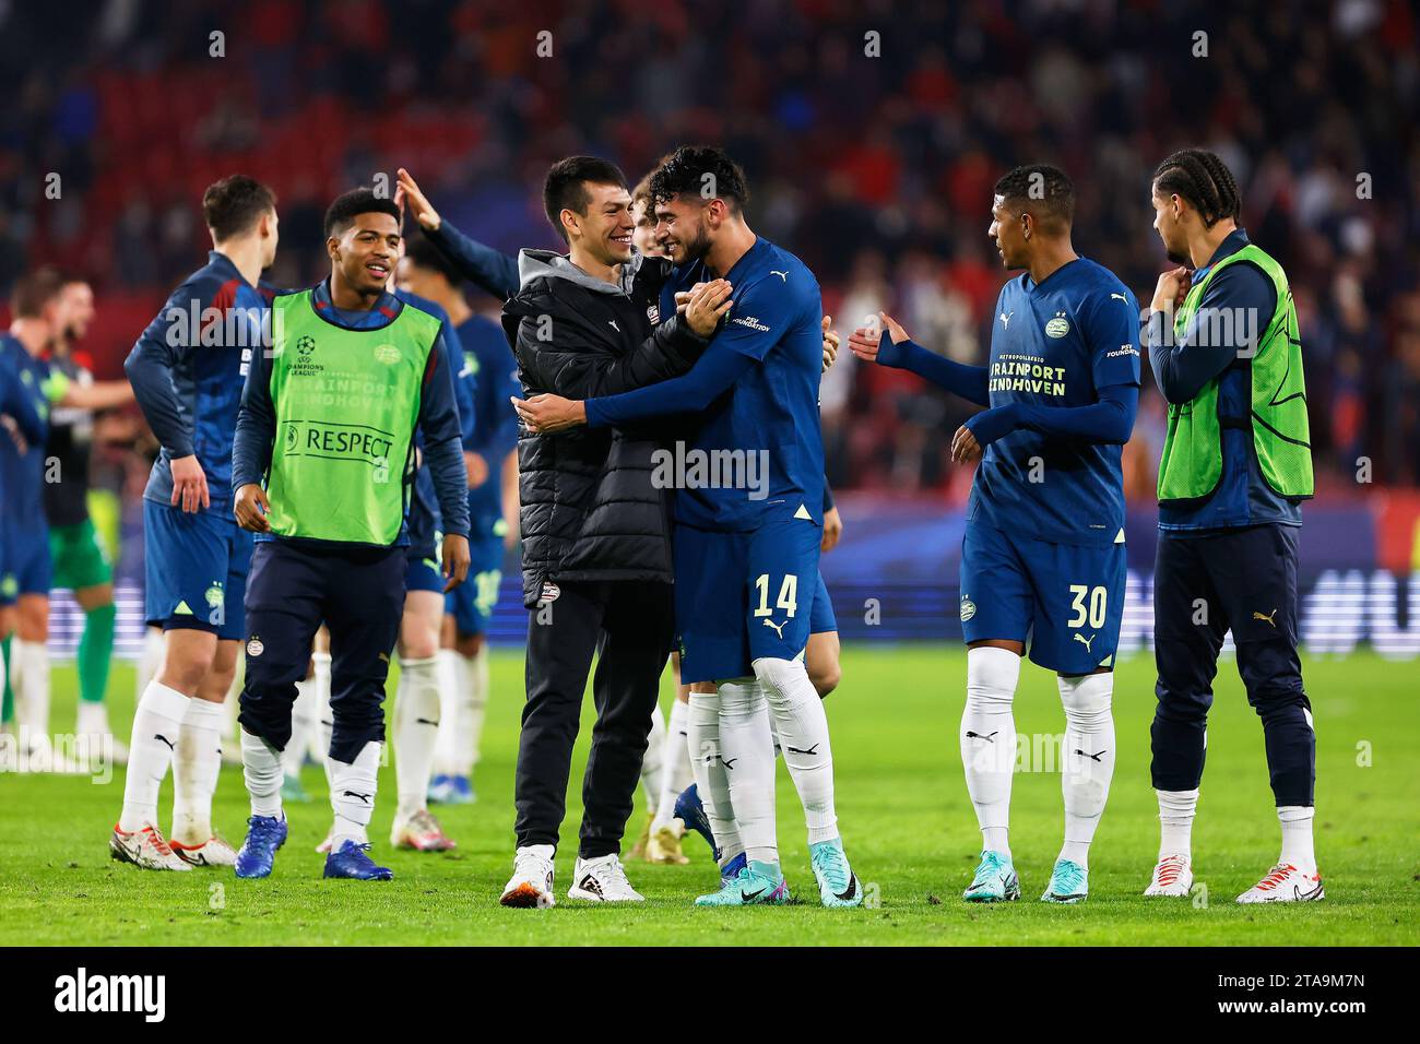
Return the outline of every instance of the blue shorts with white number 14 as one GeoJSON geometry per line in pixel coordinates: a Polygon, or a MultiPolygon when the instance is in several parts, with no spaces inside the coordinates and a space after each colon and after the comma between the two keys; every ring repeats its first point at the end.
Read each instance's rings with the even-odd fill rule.
{"type": "Polygon", "coordinates": [[[748,678],[757,659],[804,655],[818,601],[821,540],[818,523],[808,518],[748,533],[676,527],[683,685],[748,678]]]}

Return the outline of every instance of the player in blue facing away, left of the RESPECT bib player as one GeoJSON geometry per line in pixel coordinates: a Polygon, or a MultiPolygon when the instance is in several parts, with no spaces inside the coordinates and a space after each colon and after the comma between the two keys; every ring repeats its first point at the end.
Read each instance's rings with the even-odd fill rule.
{"type": "Polygon", "coordinates": [[[168,298],[124,369],[162,445],[143,491],[146,615],[165,632],[162,670],[138,700],[124,808],[109,847],[145,869],[233,865],[212,830],[222,703],[246,624],[251,535],[231,517],[231,443],[246,374],[264,344],[257,287],[275,259],[275,196],[246,175],[202,199],[212,253],[168,298]],[[173,774],[173,831],[158,790],[173,774]]]}

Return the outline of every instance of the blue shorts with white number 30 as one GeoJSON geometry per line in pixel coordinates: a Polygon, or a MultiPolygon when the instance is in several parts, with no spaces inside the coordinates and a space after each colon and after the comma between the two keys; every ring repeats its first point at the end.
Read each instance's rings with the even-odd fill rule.
{"type": "Polygon", "coordinates": [[[1014,537],[973,521],[961,541],[967,642],[1027,642],[1061,675],[1115,665],[1125,616],[1125,545],[1078,547],[1014,537]]]}

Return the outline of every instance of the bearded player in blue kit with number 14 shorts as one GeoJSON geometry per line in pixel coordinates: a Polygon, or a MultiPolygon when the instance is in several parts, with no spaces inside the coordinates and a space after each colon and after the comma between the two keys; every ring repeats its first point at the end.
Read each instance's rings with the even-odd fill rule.
{"type": "Polygon", "coordinates": [[[824,449],[818,422],[822,303],[797,257],[750,230],[744,173],[723,151],[683,146],[652,175],[657,241],[674,293],[720,277],[731,310],[689,374],[621,395],[517,401],[534,430],[632,425],[700,413],[694,436],[666,460],[676,496],[676,628],[682,680],[716,682],[692,695],[689,740],[714,751],[728,784],[696,778],[711,820],[733,821],[747,865],[703,905],[788,902],[774,822],[772,713],[798,788],[819,898],[856,906],[834,807],[828,719],[804,666],[822,540],[824,449]],[[728,805],[728,808],[726,807],[728,805]]]}

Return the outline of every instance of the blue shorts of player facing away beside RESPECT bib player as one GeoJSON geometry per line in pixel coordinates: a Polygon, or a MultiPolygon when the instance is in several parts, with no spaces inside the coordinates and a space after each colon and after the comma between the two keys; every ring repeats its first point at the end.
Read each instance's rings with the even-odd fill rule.
{"type": "Polygon", "coordinates": [[[251,534],[216,511],[143,501],[145,618],[163,631],[246,636],[251,534]]]}

